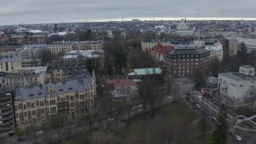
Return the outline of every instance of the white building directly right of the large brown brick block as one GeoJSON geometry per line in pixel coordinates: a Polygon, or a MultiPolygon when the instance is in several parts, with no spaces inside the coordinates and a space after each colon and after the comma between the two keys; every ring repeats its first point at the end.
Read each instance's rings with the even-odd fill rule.
{"type": "Polygon", "coordinates": [[[219,46],[219,45],[206,46],[205,49],[210,51],[210,61],[212,61],[213,59],[218,59],[221,62],[223,60],[222,46],[219,46]]]}

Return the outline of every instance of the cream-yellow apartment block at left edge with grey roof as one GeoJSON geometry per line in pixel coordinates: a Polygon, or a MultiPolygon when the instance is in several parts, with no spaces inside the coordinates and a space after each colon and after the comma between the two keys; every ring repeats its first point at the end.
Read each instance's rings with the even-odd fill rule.
{"type": "Polygon", "coordinates": [[[21,58],[3,58],[0,60],[0,71],[9,71],[10,73],[17,73],[17,70],[20,67],[21,58]]]}

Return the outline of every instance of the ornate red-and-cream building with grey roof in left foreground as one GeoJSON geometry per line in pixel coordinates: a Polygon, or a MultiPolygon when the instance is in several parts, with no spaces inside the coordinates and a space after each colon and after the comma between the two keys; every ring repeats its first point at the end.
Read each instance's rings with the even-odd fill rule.
{"type": "Polygon", "coordinates": [[[43,124],[55,114],[66,118],[79,117],[82,113],[91,115],[96,112],[96,101],[94,73],[83,79],[16,88],[16,125],[28,129],[30,124],[43,124]]]}

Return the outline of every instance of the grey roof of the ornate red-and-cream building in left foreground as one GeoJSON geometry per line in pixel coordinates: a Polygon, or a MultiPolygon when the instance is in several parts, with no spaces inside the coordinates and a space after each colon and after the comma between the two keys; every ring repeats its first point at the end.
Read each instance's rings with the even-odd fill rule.
{"type": "MultiPolygon", "coordinates": [[[[56,82],[51,83],[51,85],[53,86],[57,94],[62,94],[68,92],[83,91],[84,89],[87,89],[90,86],[91,82],[91,76],[87,76],[84,79],[56,82]]],[[[21,100],[27,100],[45,97],[45,93],[48,91],[49,86],[50,83],[33,87],[16,88],[14,98],[22,97],[21,100]]]]}

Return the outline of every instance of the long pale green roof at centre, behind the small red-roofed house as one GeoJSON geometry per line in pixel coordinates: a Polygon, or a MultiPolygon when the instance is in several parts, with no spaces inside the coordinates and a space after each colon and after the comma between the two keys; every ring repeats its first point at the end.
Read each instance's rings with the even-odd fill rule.
{"type": "Polygon", "coordinates": [[[133,72],[128,75],[152,75],[152,74],[162,74],[162,70],[160,68],[134,69],[133,72]]]}

